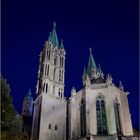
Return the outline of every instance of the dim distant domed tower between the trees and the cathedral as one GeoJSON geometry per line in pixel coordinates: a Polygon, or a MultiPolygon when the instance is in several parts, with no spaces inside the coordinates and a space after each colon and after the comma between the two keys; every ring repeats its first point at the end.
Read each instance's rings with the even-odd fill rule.
{"type": "Polygon", "coordinates": [[[24,140],[30,140],[32,128],[32,110],[33,110],[33,97],[31,90],[23,99],[22,116],[23,116],[23,133],[24,140]]]}

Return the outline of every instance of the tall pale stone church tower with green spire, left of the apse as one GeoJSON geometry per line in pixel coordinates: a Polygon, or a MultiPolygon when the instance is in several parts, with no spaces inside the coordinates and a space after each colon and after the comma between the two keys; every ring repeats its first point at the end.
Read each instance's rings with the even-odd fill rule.
{"type": "Polygon", "coordinates": [[[59,44],[54,23],[40,53],[32,140],[66,139],[65,54],[63,40],[59,44]]]}

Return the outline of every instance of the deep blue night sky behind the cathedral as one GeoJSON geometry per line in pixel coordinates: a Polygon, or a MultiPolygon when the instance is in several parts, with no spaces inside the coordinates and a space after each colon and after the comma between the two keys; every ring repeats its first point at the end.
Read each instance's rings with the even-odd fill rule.
{"type": "Polygon", "coordinates": [[[2,67],[16,110],[29,89],[35,97],[39,53],[56,21],[66,55],[65,96],[82,88],[89,47],[104,74],[128,91],[133,126],[139,117],[138,0],[2,0],[2,67]]]}

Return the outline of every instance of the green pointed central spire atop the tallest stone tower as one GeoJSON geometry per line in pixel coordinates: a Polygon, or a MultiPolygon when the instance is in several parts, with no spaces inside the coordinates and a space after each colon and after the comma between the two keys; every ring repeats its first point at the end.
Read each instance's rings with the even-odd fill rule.
{"type": "Polygon", "coordinates": [[[58,38],[57,38],[57,33],[56,33],[56,23],[53,23],[53,31],[50,33],[50,36],[48,38],[48,41],[52,42],[54,46],[59,46],[58,38]]]}

